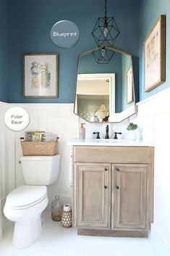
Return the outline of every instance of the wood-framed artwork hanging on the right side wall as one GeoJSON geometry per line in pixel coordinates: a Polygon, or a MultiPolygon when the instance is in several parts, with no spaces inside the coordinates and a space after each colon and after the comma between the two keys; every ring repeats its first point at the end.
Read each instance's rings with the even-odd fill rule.
{"type": "Polygon", "coordinates": [[[161,15],[144,42],[144,86],[150,91],[165,81],[165,23],[161,15]]]}

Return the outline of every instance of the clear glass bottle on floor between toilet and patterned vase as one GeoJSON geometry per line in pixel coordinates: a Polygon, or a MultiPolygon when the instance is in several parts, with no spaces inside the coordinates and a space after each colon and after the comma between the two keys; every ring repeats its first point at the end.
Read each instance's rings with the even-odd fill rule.
{"type": "Polygon", "coordinates": [[[55,200],[51,203],[51,218],[54,221],[61,220],[62,217],[62,210],[63,210],[63,204],[61,200],[59,199],[59,196],[57,198],[55,197],[55,200]]]}

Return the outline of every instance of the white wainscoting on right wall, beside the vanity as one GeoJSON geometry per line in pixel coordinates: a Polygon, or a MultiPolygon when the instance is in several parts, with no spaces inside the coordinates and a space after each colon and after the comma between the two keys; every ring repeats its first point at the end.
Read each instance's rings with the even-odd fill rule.
{"type": "Polygon", "coordinates": [[[143,140],[155,145],[154,221],[150,241],[156,256],[170,255],[170,88],[137,104],[137,115],[130,121],[138,123],[143,140]]]}

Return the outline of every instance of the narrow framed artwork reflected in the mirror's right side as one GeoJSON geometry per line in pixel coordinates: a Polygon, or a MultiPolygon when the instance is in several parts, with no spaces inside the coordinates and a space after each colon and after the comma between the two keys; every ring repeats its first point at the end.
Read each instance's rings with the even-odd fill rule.
{"type": "Polygon", "coordinates": [[[127,70],[127,104],[133,102],[133,78],[132,78],[132,67],[127,70]]]}

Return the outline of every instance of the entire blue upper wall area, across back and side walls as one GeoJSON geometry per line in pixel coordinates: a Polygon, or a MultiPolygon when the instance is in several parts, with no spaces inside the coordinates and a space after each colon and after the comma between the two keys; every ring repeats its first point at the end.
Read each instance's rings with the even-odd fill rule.
{"type": "MultiPolygon", "coordinates": [[[[140,57],[140,100],[168,88],[170,85],[170,1],[110,0],[108,1],[108,15],[114,15],[121,30],[115,46],[135,57],[140,57]],[[166,82],[152,91],[144,93],[143,41],[161,14],[166,15],[166,82]]],[[[103,0],[9,0],[8,8],[7,1],[0,0],[0,100],[7,102],[73,102],[77,56],[82,51],[95,47],[91,31],[97,17],[102,16],[103,0]],[[58,20],[64,19],[72,20],[80,29],[80,40],[70,49],[57,47],[49,36],[51,26],[58,20]],[[24,53],[43,52],[59,54],[59,98],[25,99],[22,96],[22,56],[24,53]]],[[[137,58],[135,62],[138,62],[137,58]]]]}

